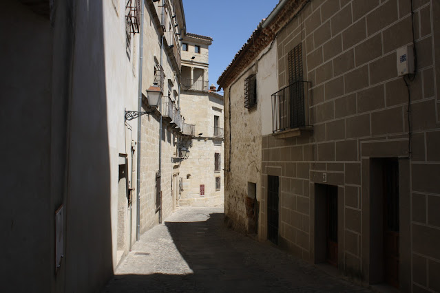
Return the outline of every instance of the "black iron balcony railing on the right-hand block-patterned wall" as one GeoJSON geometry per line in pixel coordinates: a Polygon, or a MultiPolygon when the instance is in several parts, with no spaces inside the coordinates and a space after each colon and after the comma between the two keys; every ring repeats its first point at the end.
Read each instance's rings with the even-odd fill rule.
{"type": "Polygon", "coordinates": [[[309,81],[299,80],[272,94],[273,133],[308,125],[310,84],[309,81]]]}

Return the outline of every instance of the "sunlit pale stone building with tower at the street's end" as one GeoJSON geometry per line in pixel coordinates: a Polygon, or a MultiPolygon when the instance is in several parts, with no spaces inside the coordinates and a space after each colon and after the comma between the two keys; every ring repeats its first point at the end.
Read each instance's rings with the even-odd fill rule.
{"type": "Polygon", "coordinates": [[[190,153],[182,162],[180,206],[214,206],[224,202],[223,97],[209,88],[209,36],[187,33],[182,41],[180,106],[194,137],[182,138],[190,153]]]}

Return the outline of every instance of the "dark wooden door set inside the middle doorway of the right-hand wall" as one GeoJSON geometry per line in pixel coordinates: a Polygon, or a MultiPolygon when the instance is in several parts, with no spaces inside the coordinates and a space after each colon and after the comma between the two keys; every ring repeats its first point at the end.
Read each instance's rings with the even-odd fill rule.
{"type": "Polygon", "coordinates": [[[337,186],[327,186],[326,231],[326,260],[337,267],[337,186]]]}

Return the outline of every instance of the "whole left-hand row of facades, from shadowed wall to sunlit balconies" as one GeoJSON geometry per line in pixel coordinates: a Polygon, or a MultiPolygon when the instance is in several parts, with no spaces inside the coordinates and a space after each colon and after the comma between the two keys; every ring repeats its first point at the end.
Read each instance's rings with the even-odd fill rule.
{"type": "Polygon", "coordinates": [[[182,1],[0,6],[9,40],[0,56],[0,291],[98,292],[138,232],[176,207],[179,141],[191,134],[179,104],[182,1]],[[151,113],[154,82],[163,98],[151,113]],[[138,105],[151,114],[127,119],[138,105]]]}

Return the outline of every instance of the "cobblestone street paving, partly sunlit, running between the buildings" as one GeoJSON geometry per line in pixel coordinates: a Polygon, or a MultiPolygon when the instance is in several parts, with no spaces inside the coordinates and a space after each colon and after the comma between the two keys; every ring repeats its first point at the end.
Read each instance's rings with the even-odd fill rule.
{"type": "Polygon", "coordinates": [[[140,237],[103,292],[369,292],[223,219],[223,208],[180,208],[140,237]]]}

